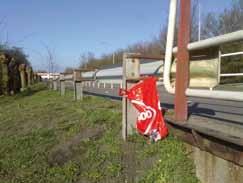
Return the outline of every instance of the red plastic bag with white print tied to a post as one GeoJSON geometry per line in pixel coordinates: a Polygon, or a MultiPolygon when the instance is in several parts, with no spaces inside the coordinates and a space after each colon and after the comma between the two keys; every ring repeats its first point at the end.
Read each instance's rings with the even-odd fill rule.
{"type": "Polygon", "coordinates": [[[129,90],[120,90],[139,111],[136,127],[139,133],[158,141],[168,135],[168,128],[162,116],[156,78],[147,77],[129,90]]]}

